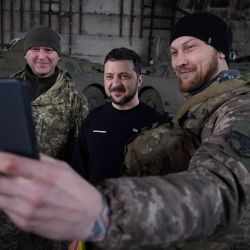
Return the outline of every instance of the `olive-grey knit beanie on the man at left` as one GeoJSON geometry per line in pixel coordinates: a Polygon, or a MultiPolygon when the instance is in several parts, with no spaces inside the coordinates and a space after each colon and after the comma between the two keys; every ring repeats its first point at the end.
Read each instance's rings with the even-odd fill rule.
{"type": "Polygon", "coordinates": [[[24,54],[32,47],[48,47],[60,55],[60,37],[51,28],[41,25],[29,30],[24,37],[24,54]]]}

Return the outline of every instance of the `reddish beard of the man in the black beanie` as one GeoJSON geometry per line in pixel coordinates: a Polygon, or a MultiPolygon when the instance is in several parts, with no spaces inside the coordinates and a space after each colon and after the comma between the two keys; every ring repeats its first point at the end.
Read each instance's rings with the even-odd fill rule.
{"type": "Polygon", "coordinates": [[[215,72],[218,70],[218,62],[216,59],[216,54],[212,57],[211,61],[207,64],[207,70],[204,74],[197,74],[193,79],[186,82],[185,84],[180,80],[180,91],[183,93],[191,93],[197,91],[202,86],[204,86],[211,78],[214,76],[215,72]]]}

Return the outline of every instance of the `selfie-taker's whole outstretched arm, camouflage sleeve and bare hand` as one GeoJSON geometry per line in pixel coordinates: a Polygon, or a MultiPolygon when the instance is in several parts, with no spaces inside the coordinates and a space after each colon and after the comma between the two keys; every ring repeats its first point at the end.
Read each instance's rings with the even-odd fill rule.
{"type": "Polygon", "coordinates": [[[250,122],[249,106],[245,96],[218,109],[214,125],[203,131],[211,136],[188,171],[111,179],[100,192],[61,161],[0,153],[0,209],[23,230],[51,239],[98,241],[101,249],[161,249],[222,237],[232,228],[233,239],[250,242],[249,169],[224,152],[232,125],[250,122]]]}

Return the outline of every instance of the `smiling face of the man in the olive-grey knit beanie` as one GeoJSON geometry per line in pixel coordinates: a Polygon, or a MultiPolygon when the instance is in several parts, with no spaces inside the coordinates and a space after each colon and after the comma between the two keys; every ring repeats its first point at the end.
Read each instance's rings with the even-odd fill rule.
{"type": "Polygon", "coordinates": [[[40,77],[51,76],[60,59],[57,52],[48,47],[32,47],[27,50],[24,58],[32,72],[40,77]]]}

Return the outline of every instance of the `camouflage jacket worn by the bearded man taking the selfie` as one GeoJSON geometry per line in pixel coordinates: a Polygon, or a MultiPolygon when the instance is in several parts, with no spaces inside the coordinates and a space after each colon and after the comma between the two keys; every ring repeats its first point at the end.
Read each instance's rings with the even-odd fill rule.
{"type": "Polygon", "coordinates": [[[250,76],[246,78],[242,91],[229,91],[212,110],[210,104],[223,93],[190,105],[192,115],[182,127],[193,128],[201,145],[187,171],[100,185],[110,207],[101,249],[193,249],[192,243],[184,244],[192,241],[199,241],[195,249],[250,249],[250,76]],[[233,153],[228,145],[235,145],[233,153]]]}

